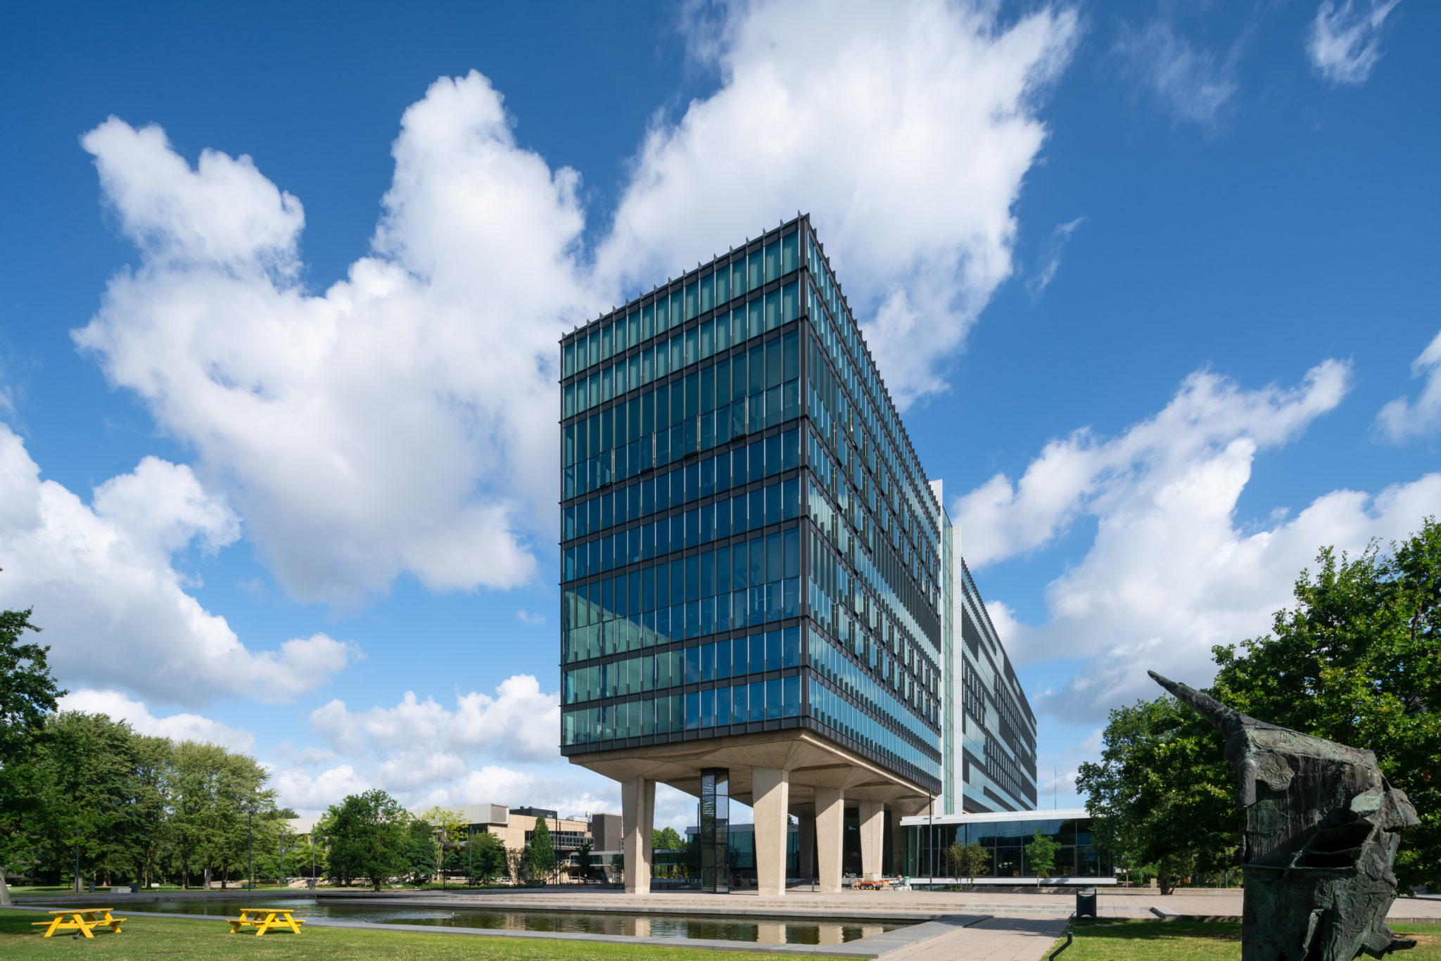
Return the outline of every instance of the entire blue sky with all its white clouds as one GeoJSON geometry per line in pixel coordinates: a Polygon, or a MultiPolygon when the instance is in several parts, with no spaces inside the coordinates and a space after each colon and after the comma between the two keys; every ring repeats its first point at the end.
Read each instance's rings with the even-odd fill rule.
{"type": "Polygon", "coordinates": [[[0,602],[68,703],[303,810],[615,808],[553,743],[552,347],[797,209],[1062,805],[1146,667],[1435,513],[1435,9],[820,6],[7,6],[0,602]]]}

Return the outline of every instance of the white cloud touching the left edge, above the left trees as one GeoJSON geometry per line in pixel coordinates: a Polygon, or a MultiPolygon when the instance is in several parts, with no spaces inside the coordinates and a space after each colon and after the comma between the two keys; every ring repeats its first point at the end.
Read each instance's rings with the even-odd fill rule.
{"type": "Polygon", "coordinates": [[[316,634],[254,651],[186,592],[173,555],[238,536],[233,511],[189,467],[147,457],[86,506],[42,481],[24,444],[0,425],[0,605],[35,607],[62,684],[199,706],[223,696],[288,700],[343,669],[352,644],[316,634]]]}

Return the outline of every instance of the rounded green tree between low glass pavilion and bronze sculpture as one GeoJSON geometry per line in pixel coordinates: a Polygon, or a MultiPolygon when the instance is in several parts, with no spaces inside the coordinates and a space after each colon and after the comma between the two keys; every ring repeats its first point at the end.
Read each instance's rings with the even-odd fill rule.
{"type": "Polygon", "coordinates": [[[1098,846],[1112,862],[1154,862],[1161,893],[1192,869],[1235,863],[1242,814],[1215,729],[1174,697],[1111,712],[1101,761],[1082,764],[1098,846]]]}

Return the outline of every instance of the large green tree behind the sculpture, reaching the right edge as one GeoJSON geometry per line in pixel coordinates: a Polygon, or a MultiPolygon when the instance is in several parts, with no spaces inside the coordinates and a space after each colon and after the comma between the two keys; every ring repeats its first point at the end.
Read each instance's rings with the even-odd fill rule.
{"type": "Polygon", "coordinates": [[[1213,648],[1210,693],[1259,720],[1375,751],[1421,818],[1401,834],[1396,877],[1441,883],[1441,524],[1424,519],[1389,555],[1375,542],[1356,559],[1326,547],[1317,565],[1270,634],[1213,648]]]}

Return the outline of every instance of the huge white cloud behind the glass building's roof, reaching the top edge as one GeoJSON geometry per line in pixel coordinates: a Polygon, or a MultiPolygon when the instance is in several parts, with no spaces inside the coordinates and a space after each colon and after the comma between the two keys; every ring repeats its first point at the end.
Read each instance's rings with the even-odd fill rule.
{"type": "Polygon", "coordinates": [[[601,275],[634,292],[808,210],[892,395],[944,389],[1012,272],[1038,101],[1076,35],[1056,7],[1014,23],[993,3],[728,7],[692,33],[720,89],[651,125],[601,275]]]}

